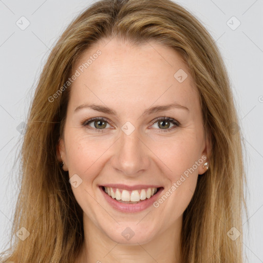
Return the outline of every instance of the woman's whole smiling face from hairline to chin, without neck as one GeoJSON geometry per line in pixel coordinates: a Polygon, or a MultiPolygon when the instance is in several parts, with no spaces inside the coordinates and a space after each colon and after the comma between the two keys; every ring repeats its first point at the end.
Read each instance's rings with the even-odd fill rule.
{"type": "Polygon", "coordinates": [[[129,244],[180,230],[209,149],[180,55],[154,42],[101,40],[73,73],[58,158],[86,228],[129,244]]]}

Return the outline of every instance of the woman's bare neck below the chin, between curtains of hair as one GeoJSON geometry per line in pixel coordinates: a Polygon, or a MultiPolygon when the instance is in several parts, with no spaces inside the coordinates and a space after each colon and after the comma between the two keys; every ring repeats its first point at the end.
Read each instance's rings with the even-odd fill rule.
{"type": "Polygon", "coordinates": [[[125,245],[115,242],[93,224],[85,215],[83,249],[75,263],[179,263],[181,262],[180,234],[182,217],[164,232],[147,243],[125,245]]]}

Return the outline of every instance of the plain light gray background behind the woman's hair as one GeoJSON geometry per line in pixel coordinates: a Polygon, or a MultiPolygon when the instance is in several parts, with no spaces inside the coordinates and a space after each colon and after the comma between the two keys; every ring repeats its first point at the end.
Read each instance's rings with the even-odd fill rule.
{"type": "MultiPolygon", "coordinates": [[[[0,0],[1,251],[9,238],[19,187],[13,163],[23,133],[17,126],[25,120],[37,79],[55,41],[73,17],[92,2],[0,0]],[[21,19],[25,19],[22,16],[30,22],[25,30],[16,25],[17,21],[22,24],[21,19]]],[[[229,70],[247,149],[244,159],[249,220],[243,222],[243,243],[249,262],[263,262],[263,2],[188,0],[177,3],[196,15],[209,30],[229,70]],[[231,18],[233,16],[237,20],[231,18]],[[237,27],[238,21],[241,24],[237,27]]]]}

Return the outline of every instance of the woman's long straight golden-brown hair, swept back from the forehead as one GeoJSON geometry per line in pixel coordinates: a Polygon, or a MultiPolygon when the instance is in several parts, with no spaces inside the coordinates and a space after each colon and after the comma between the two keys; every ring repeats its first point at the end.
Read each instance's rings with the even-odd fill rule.
{"type": "Polygon", "coordinates": [[[172,47],[187,63],[199,92],[212,152],[210,169],[198,178],[183,214],[182,262],[243,262],[246,173],[228,73],[208,31],[170,0],[96,2],[68,26],[53,47],[30,107],[21,150],[21,191],[10,248],[2,253],[6,256],[1,262],[74,262],[80,253],[83,211],[71,191],[68,172],[61,170],[56,156],[70,86],[51,102],[49,98],[67,82],[83,52],[102,37],[137,45],[156,41],[172,47]],[[24,241],[16,236],[21,228],[30,233],[24,241]]]}

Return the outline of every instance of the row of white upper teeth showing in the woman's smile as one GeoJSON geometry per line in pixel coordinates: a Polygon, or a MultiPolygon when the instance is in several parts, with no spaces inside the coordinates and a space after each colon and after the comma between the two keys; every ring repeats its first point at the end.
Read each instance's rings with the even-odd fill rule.
{"type": "Polygon", "coordinates": [[[111,187],[104,187],[105,193],[107,193],[111,198],[121,201],[131,201],[138,202],[140,200],[145,200],[146,198],[151,198],[157,192],[157,188],[148,188],[142,190],[133,190],[132,192],[127,190],[114,190],[111,187]]]}

